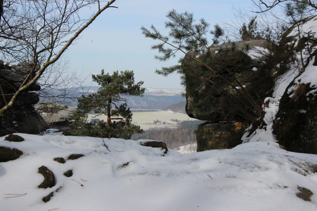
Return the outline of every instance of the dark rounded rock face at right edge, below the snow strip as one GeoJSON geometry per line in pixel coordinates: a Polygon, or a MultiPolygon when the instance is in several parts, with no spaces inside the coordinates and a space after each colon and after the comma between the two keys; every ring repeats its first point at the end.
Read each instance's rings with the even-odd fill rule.
{"type": "Polygon", "coordinates": [[[317,154],[317,95],[309,84],[301,85],[303,96],[290,97],[287,92],[280,100],[275,118],[276,139],[288,151],[317,154]]]}

